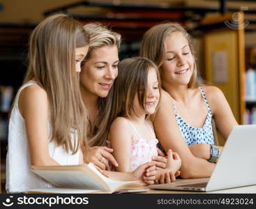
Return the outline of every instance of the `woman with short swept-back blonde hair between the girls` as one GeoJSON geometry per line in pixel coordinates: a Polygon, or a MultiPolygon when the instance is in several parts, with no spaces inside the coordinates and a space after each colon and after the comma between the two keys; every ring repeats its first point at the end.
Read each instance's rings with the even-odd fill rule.
{"type": "Polygon", "coordinates": [[[153,180],[156,163],[146,163],[131,173],[112,172],[111,164],[118,167],[112,156],[113,149],[109,148],[107,138],[110,130],[112,114],[112,98],[114,79],[118,75],[118,49],[121,36],[99,23],[84,25],[90,34],[88,53],[83,61],[80,73],[80,88],[82,98],[88,111],[88,144],[89,150],[84,155],[85,162],[93,162],[96,168],[105,176],[119,180],[140,179],[144,175],[146,183],[153,180]],[[110,162],[110,163],[109,163],[110,162]],[[149,171],[146,177],[145,171],[149,171]],[[147,181],[148,180],[148,181],[147,181]]]}

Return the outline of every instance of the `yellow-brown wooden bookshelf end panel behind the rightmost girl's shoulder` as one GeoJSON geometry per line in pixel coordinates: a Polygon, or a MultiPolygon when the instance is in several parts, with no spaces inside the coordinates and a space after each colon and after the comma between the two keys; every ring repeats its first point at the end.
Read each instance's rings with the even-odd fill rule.
{"type": "MultiPolygon", "coordinates": [[[[237,13],[236,22],[232,13],[216,15],[203,21],[205,26],[204,75],[207,82],[223,91],[234,117],[243,124],[245,102],[245,39],[243,12],[237,13]],[[227,25],[227,23],[229,23],[227,25]],[[234,26],[233,29],[229,26],[234,26]]],[[[218,134],[221,145],[225,144],[218,134]]]]}

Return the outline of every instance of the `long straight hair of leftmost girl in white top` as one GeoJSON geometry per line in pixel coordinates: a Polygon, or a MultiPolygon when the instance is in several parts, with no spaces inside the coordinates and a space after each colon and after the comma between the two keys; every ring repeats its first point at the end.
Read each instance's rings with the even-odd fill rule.
{"type": "Polygon", "coordinates": [[[51,141],[77,152],[86,146],[86,111],[75,72],[75,48],[89,44],[82,24],[67,15],[40,22],[29,40],[29,65],[24,83],[36,80],[45,89],[50,107],[51,141]],[[72,143],[70,132],[77,132],[72,143]]]}

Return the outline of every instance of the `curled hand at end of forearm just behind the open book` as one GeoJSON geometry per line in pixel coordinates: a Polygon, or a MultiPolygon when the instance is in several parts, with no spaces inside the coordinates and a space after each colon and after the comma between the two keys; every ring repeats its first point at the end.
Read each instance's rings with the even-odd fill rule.
{"type": "Polygon", "coordinates": [[[156,163],[146,162],[133,171],[135,180],[142,180],[147,185],[152,185],[156,180],[156,163]]]}

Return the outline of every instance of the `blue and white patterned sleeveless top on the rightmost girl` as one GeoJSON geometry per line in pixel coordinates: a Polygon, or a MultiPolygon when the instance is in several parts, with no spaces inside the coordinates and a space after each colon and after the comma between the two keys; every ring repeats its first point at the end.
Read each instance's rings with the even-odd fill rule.
{"type": "Polygon", "coordinates": [[[179,125],[179,130],[181,131],[181,134],[183,136],[183,139],[186,141],[187,145],[191,144],[214,144],[213,140],[213,130],[211,125],[211,109],[209,107],[209,104],[206,100],[206,96],[204,95],[204,91],[201,87],[199,87],[199,90],[201,91],[202,97],[204,98],[204,102],[206,104],[206,107],[208,109],[208,114],[206,117],[206,121],[203,125],[203,127],[192,127],[188,125],[183,119],[179,116],[179,114],[176,111],[176,107],[174,105],[174,114],[176,117],[176,121],[179,125]]]}

